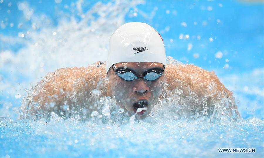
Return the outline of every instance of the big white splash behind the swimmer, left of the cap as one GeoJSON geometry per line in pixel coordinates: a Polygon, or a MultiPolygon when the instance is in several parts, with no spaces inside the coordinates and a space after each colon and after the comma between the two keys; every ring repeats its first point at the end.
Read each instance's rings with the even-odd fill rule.
{"type": "MultiPolygon", "coordinates": [[[[3,44],[24,46],[17,52],[1,51],[1,71],[13,72],[9,73],[8,79],[1,77],[1,90],[14,99],[17,93],[26,95],[24,89],[29,88],[30,84],[35,85],[48,72],[64,67],[87,67],[94,62],[105,61],[112,32],[124,23],[129,8],[141,3],[143,2],[98,2],[83,13],[85,17],[80,21],[74,16],[62,14],[57,26],[50,23],[46,27],[43,22],[51,21],[47,16],[33,13],[28,3],[20,2],[18,8],[23,10],[25,18],[30,18],[32,28],[28,31],[30,34],[21,32],[19,37],[1,34],[3,44]],[[94,13],[99,17],[95,18],[94,13]],[[13,86],[17,82],[16,78],[25,80],[20,81],[19,86],[13,86]]],[[[69,9],[77,8],[69,6],[69,9]]]]}

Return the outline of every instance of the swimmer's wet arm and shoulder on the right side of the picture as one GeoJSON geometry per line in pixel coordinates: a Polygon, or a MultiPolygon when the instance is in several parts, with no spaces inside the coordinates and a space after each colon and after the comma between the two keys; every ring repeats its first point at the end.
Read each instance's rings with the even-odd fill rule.
{"type": "MultiPolygon", "coordinates": [[[[201,107],[203,110],[206,104],[206,108],[213,110],[216,103],[220,103],[222,98],[226,98],[231,104],[227,110],[234,109],[237,112],[233,93],[226,89],[213,71],[209,72],[194,65],[167,65],[165,73],[168,89],[172,91],[179,88],[182,90],[180,95],[183,97],[194,95],[194,98],[199,100],[199,103],[194,106],[201,107]]],[[[237,114],[239,118],[239,113],[237,112],[237,114]]]]}

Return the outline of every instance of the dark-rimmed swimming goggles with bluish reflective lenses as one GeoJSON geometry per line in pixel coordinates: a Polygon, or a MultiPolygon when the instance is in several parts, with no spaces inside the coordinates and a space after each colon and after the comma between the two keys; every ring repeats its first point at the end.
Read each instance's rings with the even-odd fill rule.
{"type": "Polygon", "coordinates": [[[163,65],[162,69],[154,68],[144,72],[142,77],[138,77],[137,75],[135,75],[136,73],[130,69],[116,69],[115,65],[112,65],[112,68],[119,77],[126,81],[132,81],[134,79],[145,79],[148,81],[153,81],[155,79],[158,79],[163,74],[165,65],[163,65]]]}

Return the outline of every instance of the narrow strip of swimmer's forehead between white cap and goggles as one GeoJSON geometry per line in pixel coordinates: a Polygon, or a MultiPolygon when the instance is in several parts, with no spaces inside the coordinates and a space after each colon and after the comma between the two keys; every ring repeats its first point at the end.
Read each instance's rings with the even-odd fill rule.
{"type": "Polygon", "coordinates": [[[142,69],[142,68],[154,68],[154,67],[163,67],[162,63],[159,62],[119,62],[114,64],[116,67],[127,67],[133,69],[142,69]]]}

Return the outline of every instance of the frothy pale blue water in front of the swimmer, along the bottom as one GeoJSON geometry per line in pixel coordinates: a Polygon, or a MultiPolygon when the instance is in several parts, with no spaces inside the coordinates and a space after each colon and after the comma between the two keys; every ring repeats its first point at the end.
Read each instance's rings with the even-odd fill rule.
{"type": "Polygon", "coordinates": [[[126,120],[127,124],[1,118],[1,157],[262,157],[263,121],[126,120]],[[256,153],[218,153],[253,147],[256,153]]]}

